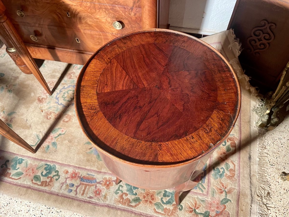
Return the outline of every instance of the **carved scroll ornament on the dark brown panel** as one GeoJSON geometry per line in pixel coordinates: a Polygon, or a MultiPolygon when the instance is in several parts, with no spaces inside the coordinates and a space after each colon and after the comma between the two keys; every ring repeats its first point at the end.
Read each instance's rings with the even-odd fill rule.
{"type": "Polygon", "coordinates": [[[274,40],[274,34],[272,29],[276,27],[275,23],[269,23],[266,20],[262,20],[263,26],[254,28],[251,32],[251,37],[247,39],[247,43],[250,47],[249,53],[253,53],[256,56],[260,55],[260,51],[264,51],[269,48],[269,43],[274,40]]]}

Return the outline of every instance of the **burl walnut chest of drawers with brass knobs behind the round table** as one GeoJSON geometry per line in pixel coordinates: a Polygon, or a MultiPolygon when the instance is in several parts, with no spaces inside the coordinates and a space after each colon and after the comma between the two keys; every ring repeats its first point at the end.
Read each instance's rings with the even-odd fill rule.
{"type": "Polygon", "coordinates": [[[23,55],[30,61],[34,61],[32,56],[83,65],[116,37],[141,29],[166,28],[169,0],[0,0],[0,7],[0,38],[10,48],[8,53],[16,52],[14,59],[23,59],[28,67],[19,68],[40,76],[45,87],[39,69],[26,64],[23,55]],[[9,27],[3,26],[7,22],[9,27]],[[19,40],[21,48],[15,45],[19,40]]]}

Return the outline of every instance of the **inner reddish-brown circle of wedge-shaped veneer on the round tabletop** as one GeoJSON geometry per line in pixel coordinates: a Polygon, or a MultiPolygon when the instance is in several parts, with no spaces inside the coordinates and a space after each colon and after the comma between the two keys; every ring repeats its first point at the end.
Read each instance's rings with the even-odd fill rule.
{"type": "Polygon", "coordinates": [[[121,133],[149,142],[198,130],[217,101],[216,82],[202,60],[169,44],[147,43],[115,56],[97,87],[99,108],[121,133]]]}

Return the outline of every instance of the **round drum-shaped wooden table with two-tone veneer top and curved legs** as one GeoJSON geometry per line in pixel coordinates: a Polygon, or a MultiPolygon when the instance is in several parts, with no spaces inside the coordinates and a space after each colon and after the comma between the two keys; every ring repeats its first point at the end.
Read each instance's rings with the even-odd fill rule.
{"type": "Polygon", "coordinates": [[[240,87],[203,41],[150,29],[118,37],[86,62],[75,88],[81,128],[117,177],[146,189],[192,189],[231,132],[240,87]]]}

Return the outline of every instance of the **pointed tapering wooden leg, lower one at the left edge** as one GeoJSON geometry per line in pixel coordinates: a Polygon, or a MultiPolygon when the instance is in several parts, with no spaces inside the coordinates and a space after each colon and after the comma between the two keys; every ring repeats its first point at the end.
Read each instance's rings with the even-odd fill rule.
{"type": "Polygon", "coordinates": [[[4,136],[5,138],[9,139],[10,141],[16,143],[18,146],[21,146],[22,148],[25,148],[26,150],[36,153],[36,151],[29,146],[27,142],[25,142],[20,136],[18,136],[11,128],[5,124],[0,119],[0,134],[4,136]]]}

